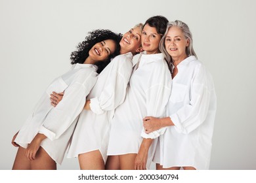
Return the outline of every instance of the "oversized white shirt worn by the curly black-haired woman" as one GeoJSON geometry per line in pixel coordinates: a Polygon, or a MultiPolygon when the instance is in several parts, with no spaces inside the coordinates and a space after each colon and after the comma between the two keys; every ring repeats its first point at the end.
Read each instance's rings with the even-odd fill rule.
{"type": "Polygon", "coordinates": [[[37,133],[43,133],[47,139],[42,141],[41,146],[54,161],[62,163],[76,118],[83,110],[97,75],[95,65],[77,63],[68,73],[53,80],[20,129],[15,142],[27,148],[37,133]],[[51,105],[52,92],[64,92],[62,101],[56,107],[51,105]]]}

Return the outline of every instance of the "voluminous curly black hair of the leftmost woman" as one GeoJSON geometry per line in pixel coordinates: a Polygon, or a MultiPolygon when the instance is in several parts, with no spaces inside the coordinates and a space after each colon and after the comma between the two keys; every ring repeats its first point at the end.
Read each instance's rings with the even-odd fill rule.
{"type": "Polygon", "coordinates": [[[85,59],[89,56],[89,50],[93,48],[93,46],[101,41],[112,39],[116,42],[116,50],[113,54],[110,54],[105,61],[98,61],[95,65],[98,67],[97,73],[99,74],[107,65],[110,63],[110,59],[116,57],[120,54],[120,45],[122,35],[116,34],[109,29],[96,29],[94,31],[89,32],[89,35],[85,37],[85,41],[79,42],[77,45],[77,51],[74,51],[70,55],[71,64],[75,63],[84,63],[85,59]]]}

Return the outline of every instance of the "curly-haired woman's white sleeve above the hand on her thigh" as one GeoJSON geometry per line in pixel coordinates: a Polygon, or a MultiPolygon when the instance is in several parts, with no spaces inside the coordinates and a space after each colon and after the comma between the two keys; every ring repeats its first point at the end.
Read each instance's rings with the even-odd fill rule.
{"type": "Polygon", "coordinates": [[[74,82],[68,86],[62,101],[46,116],[39,133],[43,133],[52,141],[58,139],[83,110],[85,99],[95,82],[96,77],[88,77],[86,85],[74,82]]]}

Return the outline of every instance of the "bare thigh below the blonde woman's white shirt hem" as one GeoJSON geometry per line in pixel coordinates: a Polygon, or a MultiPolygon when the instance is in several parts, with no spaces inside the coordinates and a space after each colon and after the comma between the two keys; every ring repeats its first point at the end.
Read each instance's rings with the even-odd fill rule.
{"type": "Polygon", "coordinates": [[[99,150],[78,155],[81,170],[104,170],[104,160],[99,150]]]}

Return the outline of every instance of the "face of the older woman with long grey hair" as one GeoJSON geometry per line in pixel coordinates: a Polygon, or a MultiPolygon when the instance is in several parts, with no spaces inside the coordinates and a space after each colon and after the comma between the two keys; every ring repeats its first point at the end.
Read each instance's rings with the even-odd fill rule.
{"type": "Polygon", "coordinates": [[[182,61],[187,57],[186,46],[188,45],[189,40],[184,37],[184,33],[179,27],[169,28],[165,37],[165,49],[173,61],[182,61]]]}

